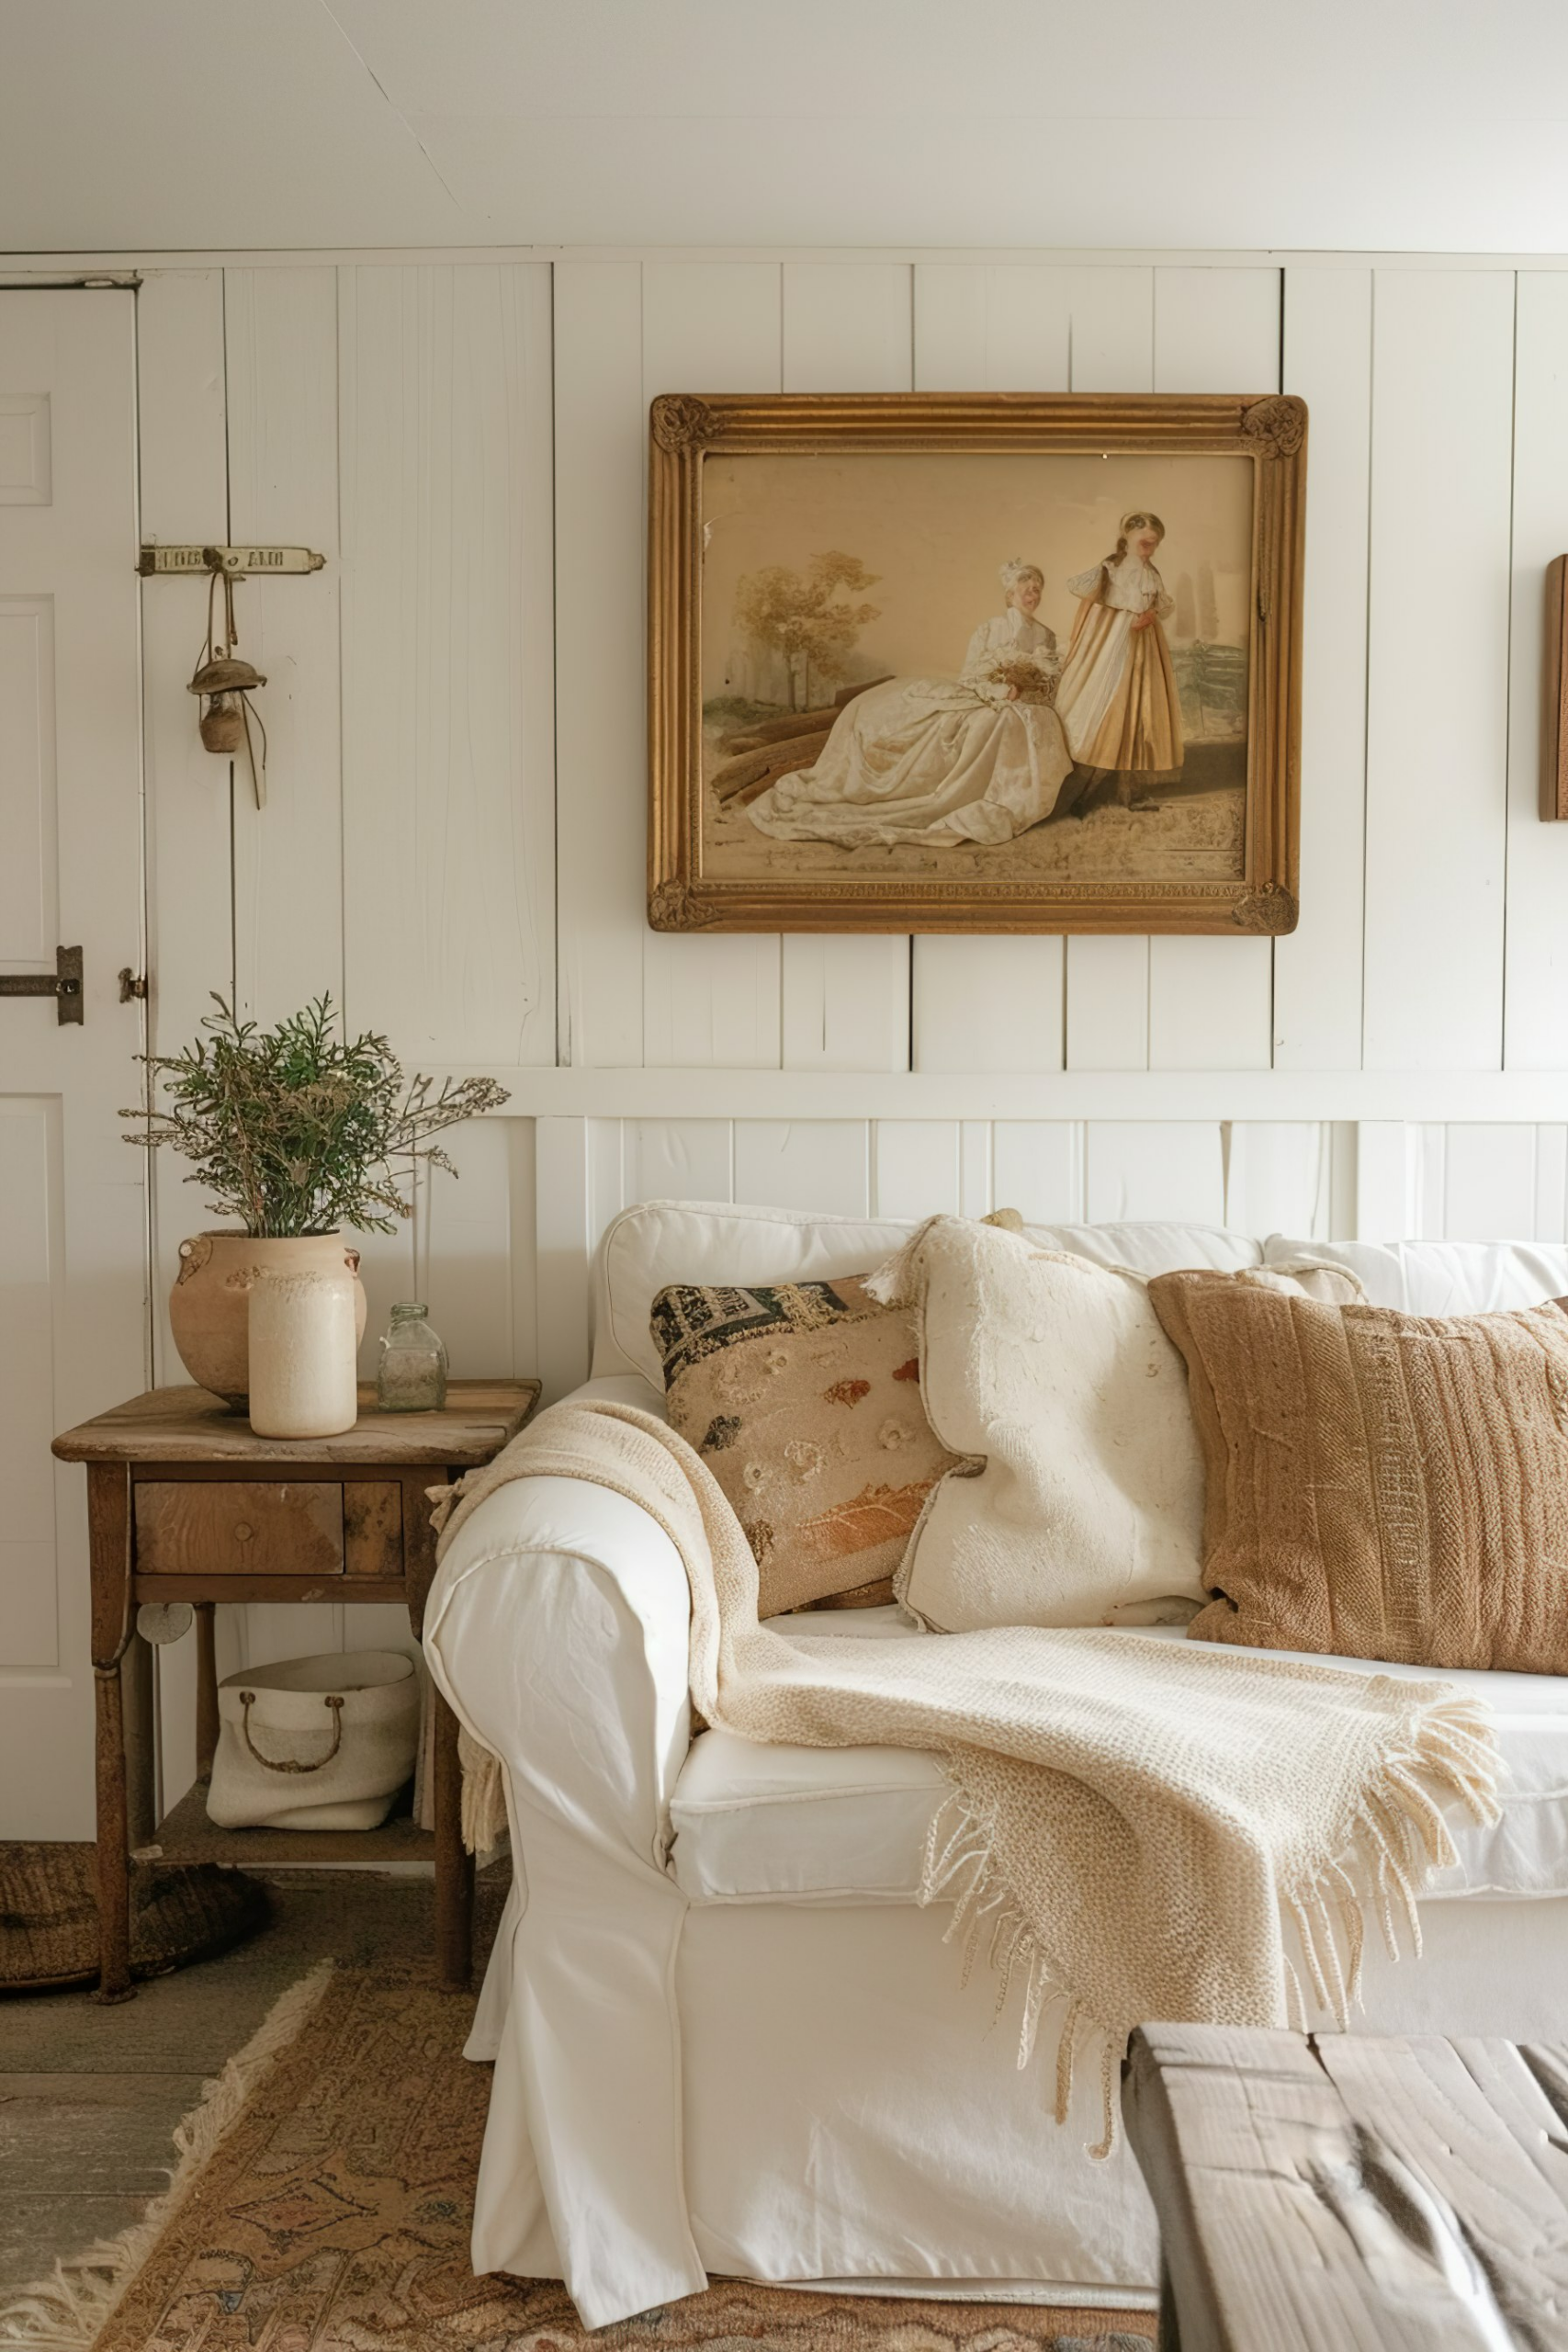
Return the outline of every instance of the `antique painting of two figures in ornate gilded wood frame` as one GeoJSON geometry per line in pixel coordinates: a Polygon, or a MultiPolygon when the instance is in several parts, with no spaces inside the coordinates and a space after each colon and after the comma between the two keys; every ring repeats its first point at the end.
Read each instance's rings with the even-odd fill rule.
{"type": "Polygon", "coordinates": [[[649,922],[1288,931],[1300,400],[665,395],[649,922]]]}

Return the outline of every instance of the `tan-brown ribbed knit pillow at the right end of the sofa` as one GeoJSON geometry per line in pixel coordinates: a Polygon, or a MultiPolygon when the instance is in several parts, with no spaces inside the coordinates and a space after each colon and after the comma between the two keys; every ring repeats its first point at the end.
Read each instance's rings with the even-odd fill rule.
{"type": "Polygon", "coordinates": [[[1159,1275],[1206,1470],[1201,1642],[1568,1672],[1568,1317],[1159,1275]]]}

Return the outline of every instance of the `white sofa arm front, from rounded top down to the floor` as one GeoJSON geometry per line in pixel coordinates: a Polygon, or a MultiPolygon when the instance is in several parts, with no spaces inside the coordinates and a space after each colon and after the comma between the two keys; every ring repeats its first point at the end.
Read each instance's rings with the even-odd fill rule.
{"type": "Polygon", "coordinates": [[[487,1496],[425,1609],[430,1672],[501,1757],[512,1825],[465,2051],[496,2060],[473,2267],[564,2277],[590,2328],[708,2284],[682,2166],[686,1898],[665,1872],[686,1625],[663,1529],[564,1477],[487,1496]]]}

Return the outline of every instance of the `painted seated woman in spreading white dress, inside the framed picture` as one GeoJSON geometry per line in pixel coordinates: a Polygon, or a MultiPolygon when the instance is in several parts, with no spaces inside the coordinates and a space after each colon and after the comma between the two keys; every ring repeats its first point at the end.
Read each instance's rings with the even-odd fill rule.
{"type": "Polygon", "coordinates": [[[1001,564],[1006,612],[959,677],[891,677],[844,706],[813,767],[745,811],[778,842],[1011,842],[1056,809],[1072,753],[1051,708],[1056,637],[1039,564],[1001,564]]]}

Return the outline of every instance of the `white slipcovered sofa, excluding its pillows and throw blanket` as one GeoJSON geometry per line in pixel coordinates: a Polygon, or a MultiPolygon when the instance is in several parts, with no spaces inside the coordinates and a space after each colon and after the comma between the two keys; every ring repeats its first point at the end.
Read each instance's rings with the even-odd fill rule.
{"type": "MultiPolygon", "coordinates": [[[[905,1232],[630,1209],[599,1251],[581,1395],[663,1411],[649,1338],[663,1284],[865,1272],[905,1232]]],[[[1563,1247],[1331,1249],[1147,1223],[1039,1240],[1145,1272],[1326,1258],[1373,1303],[1420,1315],[1568,1294],[1563,1247]]],[[[891,1623],[891,1609],[809,1618],[842,1639],[891,1623]]],[[[496,2060],[475,2270],[564,2277],[590,2326],[693,2293],[708,2272],[1154,2300],[1135,2164],[1124,2145],[1086,2154],[1098,2089],[1079,2086],[1067,2129],[1051,2122],[1048,2070],[1018,2072],[985,1971],[961,1990],[945,1907],[917,1903],[945,1795],[936,1757],[693,1738],[679,1557],[637,1505],[576,1479],[512,1482],[475,1510],[437,1576],[425,1649],[503,1759],[515,1860],[468,2046],[496,2060]]],[[[1561,2037],[1568,1682],[1453,1679],[1493,1708],[1502,1820],[1455,1825],[1462,1863],[1422,1903],[1425,1959],[1375,1952],[1356,2027],[1561,2037]]]]}

